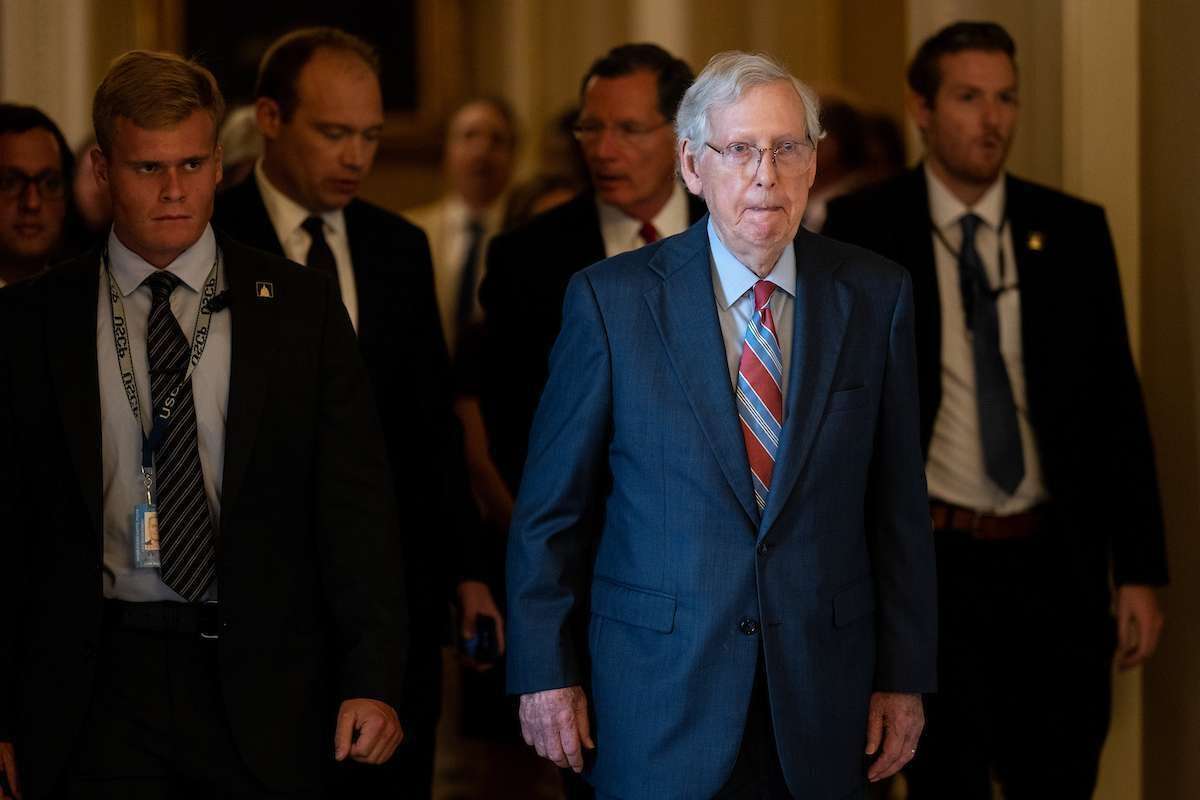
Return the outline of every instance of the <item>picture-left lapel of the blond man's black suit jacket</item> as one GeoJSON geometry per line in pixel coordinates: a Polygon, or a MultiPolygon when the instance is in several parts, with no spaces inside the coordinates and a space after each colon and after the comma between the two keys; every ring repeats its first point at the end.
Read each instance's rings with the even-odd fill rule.
{"type": "MultiPolygon", "coordinates": [[[[48,297],[47,344],[59,414],[71,461],[83,492],[91,534],[100,536],[102,465],[100,374],[96,363],[96,303],[100,297],[98,252],[60,267],[59,287],[48,297]]],[[[116,368],[116,365],[113,365],[116,368]]]]}

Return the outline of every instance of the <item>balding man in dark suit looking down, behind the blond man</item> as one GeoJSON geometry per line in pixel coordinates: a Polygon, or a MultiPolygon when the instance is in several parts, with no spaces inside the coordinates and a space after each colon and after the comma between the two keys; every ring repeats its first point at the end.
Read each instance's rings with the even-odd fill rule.
{"type": "Polygon", "coordinates": [[[451,410],[430,248],[398,216],[358,199],[383,127],[378,56],[331,28],[293,31],[263,56],[256,90],[263,158],[222,194],[214,224],[260,249],[331,273],[341,289],[383,420],[402,521],[410,648],[406,742],[385,770],[342,776],[428,796],[440,710],[448,601],[462,633],[499,612],[481,577],[478,515],[451,410]]]}

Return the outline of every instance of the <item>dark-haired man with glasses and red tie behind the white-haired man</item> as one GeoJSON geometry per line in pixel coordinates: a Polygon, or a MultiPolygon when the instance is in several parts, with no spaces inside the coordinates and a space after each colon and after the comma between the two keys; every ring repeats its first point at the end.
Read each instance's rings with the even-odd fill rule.
{"type": "Polygon", "coordinates": [[[568,281],[704,213],[676,175],[672,124],[691,80],[691,68],[656,44],[624,44],[598,59],[580,85],[575,126],[594,191],[492,240],[480,288],[480,405],[496,465],[514,492],[568,281]]]}

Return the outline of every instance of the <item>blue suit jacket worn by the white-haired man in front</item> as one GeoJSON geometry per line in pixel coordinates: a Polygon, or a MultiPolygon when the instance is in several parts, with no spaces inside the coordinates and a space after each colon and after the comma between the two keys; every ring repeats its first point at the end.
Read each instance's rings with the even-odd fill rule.
{"type": "Polygon", "coordinates": [[[760,515],[706,224],[570,283],[509,543],[509,690],[590,680],[596,788],[708,798],[733,768],[762,650],[792,793],[842,798],[865,781],[870,693],[935,681],[910,279],[797,236],[790,391],[760,515]],[[570,630],[589,600],[590,676],[570,630]]]}

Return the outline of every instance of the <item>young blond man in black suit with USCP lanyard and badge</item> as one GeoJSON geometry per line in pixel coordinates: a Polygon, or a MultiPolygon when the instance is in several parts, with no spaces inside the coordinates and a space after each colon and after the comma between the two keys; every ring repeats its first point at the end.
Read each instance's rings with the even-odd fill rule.
{"type": "Polygon", "coordinates": [[[316,796],[330,754],[402,735],[367,374],[328,277],[209,225],[222,110],[203,67],[114,61],[107,246],[0,295],[0,765],[25,798],[316,796]]]}

